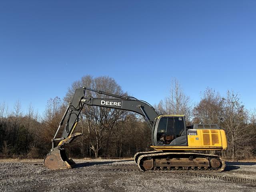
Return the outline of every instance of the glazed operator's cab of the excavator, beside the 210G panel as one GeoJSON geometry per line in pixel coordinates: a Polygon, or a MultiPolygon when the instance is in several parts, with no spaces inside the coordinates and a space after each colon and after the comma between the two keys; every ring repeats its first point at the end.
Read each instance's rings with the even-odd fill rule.
{"type": "Polygon", "coordinates": [[[187,146],[188,142],[184,116],[158,116],[153,127],[152,141],[155,146],[187,146]]]}

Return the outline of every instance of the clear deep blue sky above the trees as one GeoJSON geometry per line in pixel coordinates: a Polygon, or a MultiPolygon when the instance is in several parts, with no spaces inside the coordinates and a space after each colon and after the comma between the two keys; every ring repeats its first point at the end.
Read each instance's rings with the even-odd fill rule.
{"type": "Polygon", "coordinates": [[[0,103],[40,113],[84,75],[157,104],[177,78],[256,107],[256,1],[1,1],[0,103]]]}

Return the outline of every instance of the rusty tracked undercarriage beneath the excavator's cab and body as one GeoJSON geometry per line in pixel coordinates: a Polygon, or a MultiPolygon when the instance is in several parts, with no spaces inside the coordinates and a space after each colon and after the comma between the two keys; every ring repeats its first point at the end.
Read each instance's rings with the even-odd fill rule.
{"type": "Polygon", "coordinates": [[[219,156],[194,152],[140,152],[134,160],[142,171],[222,172],[225,168],[219,156]]]}

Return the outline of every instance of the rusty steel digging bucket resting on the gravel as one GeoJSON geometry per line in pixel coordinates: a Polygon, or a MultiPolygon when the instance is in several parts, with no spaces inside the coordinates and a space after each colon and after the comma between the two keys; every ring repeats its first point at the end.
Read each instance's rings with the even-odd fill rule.
{"type": "Polygon", "coordinates": [[[51,170],[69,169],[74,167],[76,163],[72,159],[68,159],[64,148],[55,147],[44,158],[44,165],[51,170]]]}

